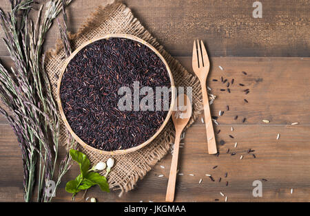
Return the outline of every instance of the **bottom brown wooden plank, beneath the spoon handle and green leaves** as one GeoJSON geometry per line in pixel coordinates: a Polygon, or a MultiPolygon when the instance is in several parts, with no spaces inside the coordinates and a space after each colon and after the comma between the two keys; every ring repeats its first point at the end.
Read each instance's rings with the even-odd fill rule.
{"type": "MultiPolygon", "coordinates": [[[[233,135],[236,137],[234,140],[227,137],[230,127],[231,125],[216,126],[216,129],[221,129],[217,139],[226,141],[224,146],[219,147],[218,157],[207,154],[203,125],[193,125],[187,129],[185,140],[182,141],[185,145],[180,149],[178,169],[184,175],[177,176],[176,202],[212,202],[214,199],[224,201],[220,192],[227,195],[231,202],[310,202],[309,125],[233,125],[233,135]],[[278,133],[280,139],[276,140],[278,133]],[[235,141],[238,142],[236,149],[235,141]],[[236,155],[226,154],[228,148],[231,153],[236,152],[236,155]],[[255,150],[256,158],[247,153],[249,148],[255,150]],[[240,155],[243,155],[242,160],[240,155]],[[218,167],[212,169],[214,166],[218,167]],[[224,177],[225,172],[228,173],[227,178],[224,177]],[[190,176],[190,173],[194,176],[190,176]],[[215,182],[211,182],[205,176],[206,173],[211,174],[215,182]],[[219,177],[222,177],[221,182],[218,182],[219,177]],[[198,184],[200,178],[203,182],[198,184]],[[267,179],[267,182],[262,182],[262,197],[253,197],[252,182],[262,178],[267,179]],[[228,186],[225,186],[226,181],[229,182],[228,186]],[[290,193],[291,188],[293,194],[290,193]]],[[[1,127],[0,135],[0,170],[3,173],[0,175],[0,200],[22,202],[22,169],[20,153],[16,151],[16,138],[9,126],[1,127]],[[2,138],[4,134],[6,136],[2,138]]],[[[123,197],[118,197],[117,191],[103,193],[98,187],[91,188],[85,197],[96,197],[99,202],[163,202],[171,159],[171,154],[163,158],[138,182],[133,191],[123,197]]],[[[75,164],[65,175],[54,201],[70,201],[71,196],[65,192],[64,186],[65,182],[76,177],[78,169],[75,164]]],[[[83,193],[77,195],[76,202],[82,201],[82,195],[83,193]]]]}

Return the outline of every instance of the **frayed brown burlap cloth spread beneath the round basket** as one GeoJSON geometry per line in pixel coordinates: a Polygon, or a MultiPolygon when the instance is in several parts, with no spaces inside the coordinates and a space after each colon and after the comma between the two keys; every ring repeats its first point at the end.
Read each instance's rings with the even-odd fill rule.
{"type": "MultiPolygon", "coordinates": [[[[70,35],[72,50],[75,50],[81,44],[85,43],[85,41],[113,33],[133,34],[153,45],[167,61],[174,76],[176,87],[192,87],[193,115],[187,127],[192,125],[202,109],[201,89],[198,78],[187,72],[176,59],[172,58],[172,56],[163,49],[163,46],[159,45],[156,39],[154,39],[154,37],[145,30],[143,25],[134,18],[130,8],[127,8],[124,4],[112,3],[104,8],[99,7],[98,10],[92,14],[90,19],[87,19],[85,24],[79,28],[76,34],[70,35]]],[[[61,41],[59,41],[56,44],[56,49],[50,50],[45,58],[45,70],[50,78],[55,98],[56,83],[64,62],[65,52],[63,51],[61,41]]],[[[65,129],[63,122],[61,122],[59,141],[61,144],[65,144],[67,140],[68,131],[65,129]]],[[[113,155],[112,157],[116,162],[108,176],[110,188],[114,190],[120,189],[121,194],[123,191],[127,192],[132,190],[138,179],[142,179],[147,171],[151,170],[152,166],[167,154],[172,142],[174,142],[174,125],[170,119],[157,138],[143,149],[124,155],[113,155]]],[[[110,157],[109,155],[90,151],[82,146],[80,146],[80,151],[88,156],[92,164],[96,164],[99,161],[106,161],[107,158],[110,157]]]]}

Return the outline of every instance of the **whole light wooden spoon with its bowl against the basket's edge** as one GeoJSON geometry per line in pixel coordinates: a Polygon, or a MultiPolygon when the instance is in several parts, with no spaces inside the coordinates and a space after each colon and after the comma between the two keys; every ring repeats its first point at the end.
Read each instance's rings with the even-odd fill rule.
{"type": "Polygon", "coordinates": [[[180,94],[174,104],[172,111],[172,121],[176,128],[176,140],[174,141],[174,151],[170,167],[169,181],[166,193],[166,202],[174,202],[174,190],[176,187],[176,169],[178,166],[178,149],[180,147],[180,135],[192,116],[192,104],[186,94],[180,94]]]}

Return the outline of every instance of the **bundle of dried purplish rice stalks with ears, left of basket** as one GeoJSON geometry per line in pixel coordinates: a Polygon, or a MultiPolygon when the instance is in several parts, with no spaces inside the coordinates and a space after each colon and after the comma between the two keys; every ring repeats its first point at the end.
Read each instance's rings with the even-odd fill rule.
{"type": "MultiPolygon", "coordinates": [[[[0,99],[9,112],[0,107],[17,136],[23,161],[25,202],[33,199],[34,182],[38,184],[38,202],[50,202],[61,177],[70,169],[71,158],[60,162],[59,175],[54,176],[59,150],[59,118],[52,97],[50,80],[44,70],[43,43],[54,18],[71,0],[52,0],[39,8],[37,21],[30,19],[33,0],[10,1],[10,12],[0,9],[3,41],[14,66],[7,69],[0,61],[0,99]],[[36,165],[37,164],[37,165],[36,165]],[[45,186],[55,180],[54,191],[45,186]]],[[[65,15],[64,15],[65,16],[65,15]]],[[[66,25],[65,25],[66,32],[66,25]]],[[[69,147],[74,140],[68,141],[69,147]]]]}

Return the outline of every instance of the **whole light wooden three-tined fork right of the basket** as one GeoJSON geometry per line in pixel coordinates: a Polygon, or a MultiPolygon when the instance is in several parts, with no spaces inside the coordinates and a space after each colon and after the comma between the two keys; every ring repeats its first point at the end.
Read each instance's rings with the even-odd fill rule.
{"type": "Polygon", "coordinates": [[[194,41],[192,67],[196,76],[198,76],[201,85],[201,91],[203,92],[203,109],[205,110],[205,129],[207,131],[208,152],[209,154],[215,154],[218,151],[216,149],[216,140],[214,137],[214,129],[211,120],[206,83],[207,76],[209,74],[210,63],[207,50],[205,50],[205,45],[203,45],[203,41],[200,41],[200,43],[201,47],[199,45],[199,41],[197,40],[197,50],[196,41],[194,41]]]}

